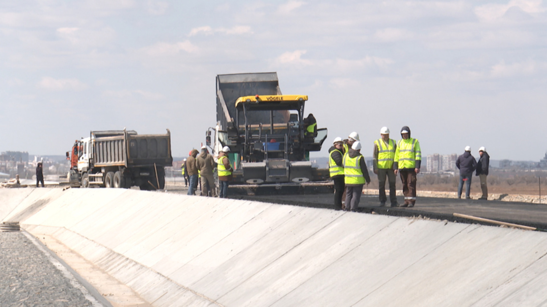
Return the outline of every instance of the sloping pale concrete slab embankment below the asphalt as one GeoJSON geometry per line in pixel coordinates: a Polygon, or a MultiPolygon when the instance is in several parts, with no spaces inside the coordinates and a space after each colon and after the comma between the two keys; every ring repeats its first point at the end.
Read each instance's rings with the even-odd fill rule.
{"type": "Polygon", "coordinates": [[[123,189],[4,190],[4,221],[53,235],[154,306],[547,302],[545,233],[123,189]]]}

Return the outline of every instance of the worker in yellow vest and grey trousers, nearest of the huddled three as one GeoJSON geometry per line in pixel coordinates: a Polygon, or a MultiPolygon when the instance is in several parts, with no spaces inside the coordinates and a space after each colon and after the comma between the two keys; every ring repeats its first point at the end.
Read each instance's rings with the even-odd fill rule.
{"type": "Polygon", "coordinates": [[[365,158],[361,155],[361,143],[355,141],[344,155],[344,183],[346,185],[346,211],[357,211],[363,185],[370,183],[365,158]]]}

